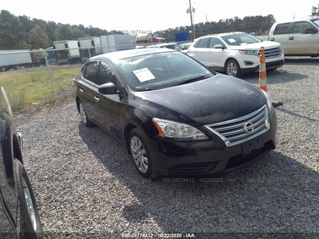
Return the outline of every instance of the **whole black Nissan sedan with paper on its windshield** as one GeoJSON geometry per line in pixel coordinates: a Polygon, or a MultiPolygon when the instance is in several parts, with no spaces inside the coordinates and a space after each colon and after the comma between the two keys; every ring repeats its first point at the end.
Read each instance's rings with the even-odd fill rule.
{"type": "Polygon", "coordinates": [[[122,142],[146,178],[217,177],[276,147],[269,95],[181,52],[95,56],[73,84],[83,123],[122,142]]]}

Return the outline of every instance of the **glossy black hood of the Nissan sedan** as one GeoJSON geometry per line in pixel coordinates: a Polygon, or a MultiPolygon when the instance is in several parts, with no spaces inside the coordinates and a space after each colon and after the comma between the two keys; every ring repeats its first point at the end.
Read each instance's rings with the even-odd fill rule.
{"type": "Polygon", "coordinates": [[[135,100],[151,110],[153,117],[190,125],[234,119],[266,104],[257,87],[221,74],[185,85],[135,92],[135,100]]]}

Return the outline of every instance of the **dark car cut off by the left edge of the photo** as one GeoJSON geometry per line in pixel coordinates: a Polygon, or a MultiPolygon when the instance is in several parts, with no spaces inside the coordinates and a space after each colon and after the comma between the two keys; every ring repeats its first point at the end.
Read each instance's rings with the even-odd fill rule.
{"type": "Polygon", "coordinates": [[[0,88],[0,238],[40,239],[40,217],[31,183],[23,166],[22,135],[0,88]]]}

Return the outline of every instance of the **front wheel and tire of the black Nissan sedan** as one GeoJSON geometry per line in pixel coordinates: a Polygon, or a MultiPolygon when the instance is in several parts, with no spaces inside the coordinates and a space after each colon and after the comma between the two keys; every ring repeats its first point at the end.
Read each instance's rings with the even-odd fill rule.
{"type": "Polygon", "coordinates": [[[138,128],[132,129],[129,136],[129,145],[134,165],[139,173],[145,178],[156,178],[158,175],[145,133],[138,128]]]}

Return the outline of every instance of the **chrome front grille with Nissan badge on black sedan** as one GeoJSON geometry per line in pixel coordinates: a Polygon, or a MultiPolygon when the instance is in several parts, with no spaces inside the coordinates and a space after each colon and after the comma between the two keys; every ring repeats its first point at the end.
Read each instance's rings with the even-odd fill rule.
{"type": "Polygon", "coordinates": [[[227,147],[250,140],[270,129],[267,106],[246,116],[205,125],[217,134],[227,147]]]}

